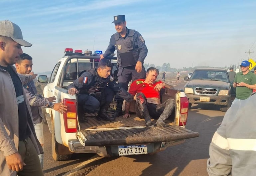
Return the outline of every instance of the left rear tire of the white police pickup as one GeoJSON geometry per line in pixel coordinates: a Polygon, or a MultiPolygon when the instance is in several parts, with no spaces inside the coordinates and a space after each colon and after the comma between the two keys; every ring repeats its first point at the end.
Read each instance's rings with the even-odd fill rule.
{"type": "Polygon", "coordinates": [[[52,129],[52,153],[55,161],[66,161],[72,156],[72,152],[55,140],[54,128],[52,129]]]}

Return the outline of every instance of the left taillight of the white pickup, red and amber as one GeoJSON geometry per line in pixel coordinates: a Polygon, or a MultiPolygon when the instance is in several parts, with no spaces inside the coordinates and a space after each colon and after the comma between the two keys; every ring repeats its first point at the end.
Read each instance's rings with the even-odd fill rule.
{"type": "Polygon", "coordinates": [[[77,132],[76,100],[64,98],[63,104],[67,106],[67,111],[63,113],[65,132],[75,133],[77,132]]]}

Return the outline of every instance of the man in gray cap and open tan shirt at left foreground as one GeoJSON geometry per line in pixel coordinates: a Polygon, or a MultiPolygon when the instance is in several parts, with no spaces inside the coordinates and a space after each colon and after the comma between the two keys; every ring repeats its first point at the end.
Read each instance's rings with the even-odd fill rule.
{"type": "Polygon", "coordinates": [[[10,21],[0,21],[0,173],[1,175],[41,176],[38,154],[43,153],[36,138],[28,100],[22,84],[37,74],[18,75],[15,64],[23,53],[21,29],[10,21]]]}

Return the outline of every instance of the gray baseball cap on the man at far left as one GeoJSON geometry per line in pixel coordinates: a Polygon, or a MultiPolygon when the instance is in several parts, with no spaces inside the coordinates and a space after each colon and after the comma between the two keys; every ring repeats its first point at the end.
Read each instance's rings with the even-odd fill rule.
{"type": "Polygon", "coordinates": [[[25,46],[25,47],[31,47],[32,44],[23,40],[22,32],[20,27],[8,20],[0,21],[0,35],[10,37],[18,44],[25,46]]]}

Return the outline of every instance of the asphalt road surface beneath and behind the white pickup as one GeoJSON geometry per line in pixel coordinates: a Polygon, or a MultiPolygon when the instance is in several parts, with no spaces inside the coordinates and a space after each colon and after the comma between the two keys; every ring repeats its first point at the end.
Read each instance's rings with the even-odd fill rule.
{"type": "MultiPolygon", "coordinates": [[[[169,84],[175,88],[183,88],[185,83],[185,81],[173,81],[169,84]]],[[[69,161],[53,160],[51,134],[48,126],[44,125],[43,170],[46,176],[206,176],[209,144],[224,114],[225,112],[221,112],[218,106],[192,105],[186,128],[199,132],[199,137],[187,139],[185,143],[169,147],[158,154],[112,158],[103,158],[95,154],[73,154],[69,161]]]]}

